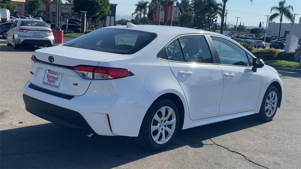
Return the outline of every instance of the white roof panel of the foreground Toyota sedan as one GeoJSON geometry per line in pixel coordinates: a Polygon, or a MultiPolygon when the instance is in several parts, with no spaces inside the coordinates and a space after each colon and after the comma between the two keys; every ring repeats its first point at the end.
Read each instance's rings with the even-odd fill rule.
{"type": "Polygon", "coordinates": [[[223,36],[222,34],[215,33],[215,32],[209,32],[204,31],[200,29],[192,29],[192,28],[185,28],[185,27],[179,27],[179,26],[161,26],[161,25],[136,25],[135,27],[129,27],[127,28],[126,25],[123,26],[108,26],[104,27],[102,29],[106,28],[116,28],[116,29],[130,29],[130,30],[138,30],[138,31],[144,31],[144,32],[151,32],[151,33],[164,33],[164,35],[183,35],[183,34],[209,34],[209,35],[219,35],[223,36]]]}

